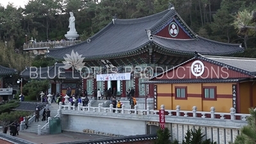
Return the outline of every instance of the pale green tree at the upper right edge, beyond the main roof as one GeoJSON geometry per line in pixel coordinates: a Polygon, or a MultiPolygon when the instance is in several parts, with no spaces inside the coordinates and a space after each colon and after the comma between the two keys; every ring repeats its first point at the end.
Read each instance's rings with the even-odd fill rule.
{"type": "Polygon", "coordinates": [[[238,30],[238,35],[244,36],[244,47],[247,49],[248,36],[256,30],[256,12],[250,13],[248,10],[243,10],[238,12],[234,18],[232,25],[238,30]]]}

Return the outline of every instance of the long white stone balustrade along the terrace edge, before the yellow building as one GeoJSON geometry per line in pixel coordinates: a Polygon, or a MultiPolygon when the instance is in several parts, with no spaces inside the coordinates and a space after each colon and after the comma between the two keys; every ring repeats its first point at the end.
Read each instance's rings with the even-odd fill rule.
{"type": "MultiPolygon", "coordinates": [[[[164,108],[162,105],[161,108],[164,108]]],[[[109,108],[103,108],[102,104],[99,104],[98,107],[92,107],[92,104],[88,106],[81,106],[81,103],[78,103],[78,106],[71,106],[71,103],[68,102],[66,105],[62,105],[60,102],[61,111],[67,110],[68,113],[72,111],[84,111],[84,112],[94,112],[94,113],[116,113],[116,114],[131,114],[131,115],[159,115],[159,110],[152,110],[150,106],[147,106],[147,109],[138,109],[138,106],[134,106],[134,109],[125,108],[124,104],[122,108],[113,108],[113,104],[110,104],[109,108]]],[[[230,108],[230,113],[217,113],[214,107],[209,109],[210,111],[197,111],[196,106],[193,106],[191,111],[182,111],[180,106],[176,106],[176,110],[165,109],[166,118],[168,116],[181,116],[181,117],[193,117],[193,118],[207,118],[207,119],[219,119],[219,120],[240,120],[246,121],[246,117],[250,116],[248,114],[236,113],[236,109],[230,108]]]]}

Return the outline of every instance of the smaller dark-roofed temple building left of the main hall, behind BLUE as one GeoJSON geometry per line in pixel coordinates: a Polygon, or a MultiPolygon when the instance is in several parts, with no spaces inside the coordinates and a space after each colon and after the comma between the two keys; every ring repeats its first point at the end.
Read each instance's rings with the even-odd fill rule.
{"type": "Polygon", "coordinates": [[[48,93],[66,93],[67,88],[72,89],[72,93],[76,88],[82,90],[81,74],[71,69],[65,69],[63,63],[56,63],[51,67],[26,67],[20,72],[20,77],[26,81],[31,79],[44,80],[48,79],[51,83],[48,93]]]}

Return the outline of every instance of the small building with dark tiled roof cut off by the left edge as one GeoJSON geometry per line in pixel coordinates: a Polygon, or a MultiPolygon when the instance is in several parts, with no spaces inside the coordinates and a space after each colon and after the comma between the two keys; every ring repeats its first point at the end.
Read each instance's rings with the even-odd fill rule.
{"type": "Polygon", "coordinates": [[[0,65],[0,101],[13,99],[13,75],[17,70],[0,65]]]}

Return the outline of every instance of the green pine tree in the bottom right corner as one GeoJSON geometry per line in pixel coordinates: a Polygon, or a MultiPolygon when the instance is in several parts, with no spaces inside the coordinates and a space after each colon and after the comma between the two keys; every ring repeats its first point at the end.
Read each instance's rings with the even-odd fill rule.
{"type": "Polygon", "coordinates": [[[250,116],[247,118],[248,125],[241,129],[241,134],[237,136],[235,144],[256,143],[256,109],[251,108],[250,116]]]}

